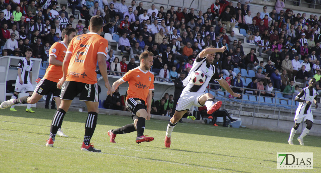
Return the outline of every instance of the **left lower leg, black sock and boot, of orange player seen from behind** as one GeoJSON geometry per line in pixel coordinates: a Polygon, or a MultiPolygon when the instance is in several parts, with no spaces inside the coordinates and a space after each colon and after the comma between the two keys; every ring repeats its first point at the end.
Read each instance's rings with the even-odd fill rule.
{"type": "Polygon", "coordinates": [[[51,122],[50,135],[49,135],[49,139],[47,140],[46,146],[48,146],[48,147],[54,146],[56,133],[59,129],[59,126],[61,127],[61,124],[63,122],[65,114],[66,114],[66,111],[64,111],[61,108],[58,108],[56,110],[54,117],[52,119],[52,122],[51,122]]]}

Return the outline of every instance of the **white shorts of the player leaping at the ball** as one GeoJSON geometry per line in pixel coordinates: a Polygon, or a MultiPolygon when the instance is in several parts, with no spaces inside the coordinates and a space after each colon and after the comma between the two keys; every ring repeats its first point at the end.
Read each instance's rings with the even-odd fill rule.
{"type": "Polygon", "coordinates": [[[204,106],[198,103],[198,98],[206,93],[204,92],[185,92],[182,93],[177,101],[176,111],[189,111],[192,106],[204,106]]]}

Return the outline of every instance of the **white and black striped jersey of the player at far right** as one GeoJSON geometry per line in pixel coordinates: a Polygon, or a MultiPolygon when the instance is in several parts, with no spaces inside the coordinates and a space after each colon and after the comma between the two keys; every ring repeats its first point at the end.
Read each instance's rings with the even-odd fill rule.
{"type": "MultiPolygon", "coordinates": [[[[308,87],[303,88],[301,92],[296,96],[305,101],[310,101],[313,103],[313,100],[317,100],[317,90],[312,89],[309,90],[308,87]]],[[[299,106],[297,108],[296,114],[312,114],[311,105],[308,105],[306,102],[299,102],[299,106]]]]}

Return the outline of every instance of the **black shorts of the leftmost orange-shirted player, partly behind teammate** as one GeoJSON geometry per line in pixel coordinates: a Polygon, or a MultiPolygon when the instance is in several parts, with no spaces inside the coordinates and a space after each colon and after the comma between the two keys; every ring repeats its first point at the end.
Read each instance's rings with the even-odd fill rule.
{"type": "Polygon", "coordinates": [[[61,89],[57,88],[57,83],[49,81],[48,79],[41,79],[34,90],[39,95],[47,95],[52,92],[53,97],[60,97],[61,89]]]}

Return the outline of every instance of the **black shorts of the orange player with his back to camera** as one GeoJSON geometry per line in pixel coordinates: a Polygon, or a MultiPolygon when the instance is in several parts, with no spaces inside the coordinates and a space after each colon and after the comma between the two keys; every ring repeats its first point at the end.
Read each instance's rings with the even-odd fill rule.
{"type": "Polygon", "coordinates": [[[60,98],[73,100],[80,93],[79,100],[99,102],[98,85],[74,81],[65,81],[61,86],[60,98]]]}

